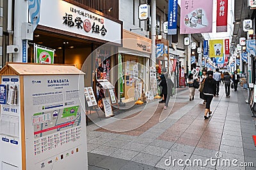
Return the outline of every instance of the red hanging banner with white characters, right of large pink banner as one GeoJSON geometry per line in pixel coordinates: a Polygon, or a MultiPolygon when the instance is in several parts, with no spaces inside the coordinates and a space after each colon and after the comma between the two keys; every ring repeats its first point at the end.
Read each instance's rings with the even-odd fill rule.
{"type": "Polygon", "coordinates": [[[216,32],[227,32],[228,0],[217,0],[216,32]]]}

